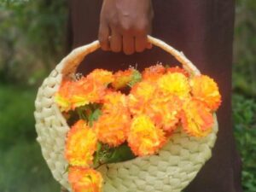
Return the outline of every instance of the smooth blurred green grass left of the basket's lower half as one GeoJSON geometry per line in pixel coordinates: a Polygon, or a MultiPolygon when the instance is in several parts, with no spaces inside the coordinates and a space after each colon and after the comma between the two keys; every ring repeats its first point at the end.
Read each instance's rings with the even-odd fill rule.
{"type": "Polygon", "coordinates": [[[0,191],[60,191],[35,142],[35,90],[0,84],[0,191]]]}

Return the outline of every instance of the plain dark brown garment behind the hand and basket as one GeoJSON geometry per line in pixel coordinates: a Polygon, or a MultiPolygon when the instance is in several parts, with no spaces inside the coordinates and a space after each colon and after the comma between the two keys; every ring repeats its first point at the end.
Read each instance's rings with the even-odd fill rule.
{"type": "MultiPolygon", "coordinates": [[[[182,50],[201,73],[216,79],[223,96],[212,159],[185,191],[241,192],[241,160],[232,135],[230,99],[234,1],[153,0],[153,3],[152,35],[182,50]]],[[[101,6],[102,0],[70,0],[73,48],[96,40],[101,6]]],[[[157,61],[177,64],[171,55],[158,48],[129,56],[98,50],[85,58],[79,71],[89,73],[96,67],[118,70],[136,63],[142,69],[157,61]]]]}

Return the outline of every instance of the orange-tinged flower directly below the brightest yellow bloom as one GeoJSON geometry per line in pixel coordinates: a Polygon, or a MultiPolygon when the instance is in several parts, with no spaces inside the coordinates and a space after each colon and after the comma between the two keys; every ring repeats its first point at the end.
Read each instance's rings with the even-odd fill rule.
{"type": "Polygon", "coordinates": [[[146,113],[156,125],[170,133],[177,129],[181,109],[182,101],[177,96],[156,94],[149,103],[146,113]]]}

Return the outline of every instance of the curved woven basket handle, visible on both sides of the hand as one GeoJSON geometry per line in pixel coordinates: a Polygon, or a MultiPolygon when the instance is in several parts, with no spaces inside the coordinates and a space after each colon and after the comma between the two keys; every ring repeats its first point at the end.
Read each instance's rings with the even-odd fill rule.
{"type": "MultiPolygon", "coordinates": [[[[154,44],[161,49],[164,49],[167,53],[173,55],[177,61],[179,61],[183,68],[190,74],[190,76],[199,75],[200,71],[195,67],[195,65],[189,61],[189,59],[183,55],[183,52],[179,52],[177,49],[174,49],[169,44],[161,41],[158,38],[153,38],[148,36],[148,42],[154,44]]],[[[92,42],[91,44],[84,45],[82,47],[73,49],[73,51],[65,57],[59,66],[56,69],[63,75],[69,76],[76,72],[77,67],[84,60],[86,55],[96,51],[100,48],[100,43],[98,40],[92,42]]]]}

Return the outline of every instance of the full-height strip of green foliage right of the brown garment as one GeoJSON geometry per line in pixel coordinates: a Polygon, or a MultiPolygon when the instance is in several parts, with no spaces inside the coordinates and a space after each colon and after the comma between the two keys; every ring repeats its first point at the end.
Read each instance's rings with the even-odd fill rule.
{"type": "Polygon", "coordinates": [[[241,154],[242,187],[256,191],[256,1],[236,1],[233,124],[241,154]]]}

